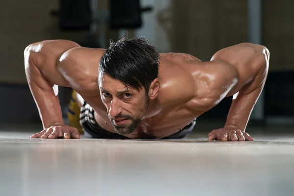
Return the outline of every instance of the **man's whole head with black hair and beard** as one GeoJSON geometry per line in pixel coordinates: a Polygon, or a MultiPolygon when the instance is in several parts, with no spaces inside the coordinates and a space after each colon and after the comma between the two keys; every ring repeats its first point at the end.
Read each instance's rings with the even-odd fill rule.
{"type": "Polygon", "coordinates": [[[158,95],[159,54],[143,38],[111,43],[99,64],[100,95],[117,133],[135,131],[158,95]]]}

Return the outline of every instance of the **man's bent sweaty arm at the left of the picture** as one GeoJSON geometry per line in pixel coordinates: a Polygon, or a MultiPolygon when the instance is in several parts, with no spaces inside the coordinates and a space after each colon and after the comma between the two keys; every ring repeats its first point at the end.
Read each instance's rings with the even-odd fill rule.
{"type": "MultiPolygon", "coordinates": [[[[32,138],[47,138],[49,136],[46,135],[47,129],[51,126],[64,125],[58,85],[69,86],[69,84],[58,73],[56,66],[61,55],[74,47],[79,45],[67,40],[54,40],[31,44],[25,49],[26,78],[44,127],[43,131],[33,135],[32,138]]],[[[56,135],[57,132],[57,137],[60,137],[58,130],[56,135]]],[[[66,135],[65,138],[70,138],[70,135],[66,135]]]]}

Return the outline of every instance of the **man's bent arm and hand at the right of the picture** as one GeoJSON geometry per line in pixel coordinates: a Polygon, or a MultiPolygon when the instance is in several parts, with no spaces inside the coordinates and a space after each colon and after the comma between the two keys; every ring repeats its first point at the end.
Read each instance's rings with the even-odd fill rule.
{"type": "Polygon", "coordinates": [[[240,47],[239,52],[237,47],[233,52],[235,54],[247,55],[247,57],[242,57],[242,55],[230,57],[228,52],[224,53],[223,57],[221,55],[218,56],[218,58],[230,57],[227,61],[235,63],[236,69],[239,70],[241,81],[236,87],[237,90],[235,89],[237,93],[233,96],[232,105],[224,128],[212,131],[209,134],[209,140],[217,138],[220,140],[253,141],[253,138],[245,133],[245,129],[254,105],[266,82],[270,53],[267,48],[259,45],[248,45],[247,48],[240,47]],[[244,52],[241,52],[241,50],[244,52]],[[237,58],[239,58],[239,63],[236,63],[238,62],[236,60],[237,58]],[[250,82],[246,82],[249,79],[250,82]]]}

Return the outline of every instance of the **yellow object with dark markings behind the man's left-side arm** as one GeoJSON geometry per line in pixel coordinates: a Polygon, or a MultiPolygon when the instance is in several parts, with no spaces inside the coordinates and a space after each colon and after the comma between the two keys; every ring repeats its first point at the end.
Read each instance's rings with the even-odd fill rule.
{"type": "Polygon", "coordinates": [[[68,120],[69,120],[69,126],[77,128],[78,132],[83,134],[84,131],[82,129],[81,124],[79,123],[79,114],[80,114],[80,108],[78,107],[76,103],[76,92],[73,91],[72,97],[69,103],[69,109],[68,109],[68,120]]]}

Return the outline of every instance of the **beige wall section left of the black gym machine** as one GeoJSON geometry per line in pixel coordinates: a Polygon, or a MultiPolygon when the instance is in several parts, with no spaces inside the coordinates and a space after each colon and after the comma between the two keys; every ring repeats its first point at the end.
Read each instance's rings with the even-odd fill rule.
{"type": "MultiPolygon", "coordinates": [[[[106,8],[106,0],[99,0],[106,8]]],[[[58,9],[58,0],[3,1],[0,6],[0,82],[26,84],[24,49],[47,39],[84,42],[86,32],[59,32],[58,18],[49,15],[58,9]]],[[[117,31],[107,31],[107,40],[117,39],[117,31]]]]}

